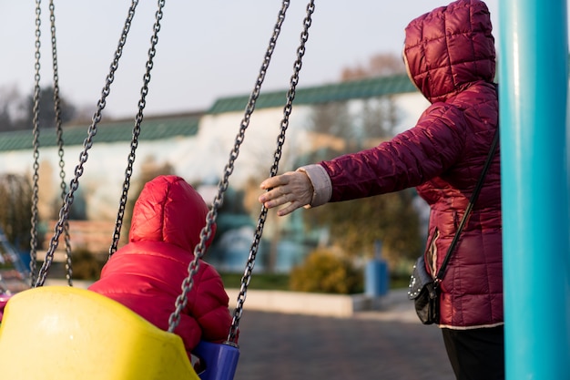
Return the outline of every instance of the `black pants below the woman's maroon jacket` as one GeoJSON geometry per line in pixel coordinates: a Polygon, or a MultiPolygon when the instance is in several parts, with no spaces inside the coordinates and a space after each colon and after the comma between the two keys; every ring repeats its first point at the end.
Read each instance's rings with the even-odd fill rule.
{"type": "Polygon", "coordinates": [[[504,380],[503,326],[442,332],[457,380],[504,380]]]}

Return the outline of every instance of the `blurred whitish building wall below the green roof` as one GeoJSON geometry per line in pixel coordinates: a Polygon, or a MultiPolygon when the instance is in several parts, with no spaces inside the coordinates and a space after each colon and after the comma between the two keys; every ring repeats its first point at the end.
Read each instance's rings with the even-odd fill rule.
{"type": "MultiPolygon", "coordinates": [[[[402,94],[396,96],[395,100],[401,109],[398,131],[412,127],[428,105],[418,93],[402,94]]],[[[291,163],[296,157],[310,149],[310,141],[305,133],[310,123],[309,116],[310,107],[293,106],[280,172],[293,169],[291,163]]],[[[188,182],[217,184],[228,163],[229,152],[233,149],[242,118],[243,112],[206,115],[200,119],[196,136],[140,141],[131,182],[137,180],[141,166],[153,160],[158,166],[171,165],[188,182]]],[[[250,178],[262,180],[269,176],[282,118],[282,108],[260,108],[253,113],[229,179],[230,186],[239,188],[250,178]]],[[[144,123],[142,128],[144,129],[144,123]]],[[[74,177],[82,150],[82,146],[65,147],[67,186],[74,177]]],[[[97,143],[97,136],[95,137],[93,147],[88,150],[84,174],[79,179],[79,190],[87,199],[89,219],[115,220],[129,152],[130,144],[127,141],[97,143]]],[[[33,162],[31,150],[0,152],[0,174],[26,174],[31,178],[33,162]]],[[[51,202],[56,200],[61,191],[56,147],[40,148],[39,162],[40,216],[46,218],[51,202]]],[[[211,192],[204,195],[205,198],[213,197],[211,192]]]]}

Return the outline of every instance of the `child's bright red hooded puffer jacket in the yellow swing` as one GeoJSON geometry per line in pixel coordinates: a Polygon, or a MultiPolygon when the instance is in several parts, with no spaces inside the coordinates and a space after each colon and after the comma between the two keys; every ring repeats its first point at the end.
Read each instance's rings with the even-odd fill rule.
{"type": "MultiPolygon", "coordinates": [[[[148,182],[133,211],[128,244],[113,254],[89,289],[168,330],[207,213],[204,200],[185,180],[159,176],[148,182]]],[[[229,298],[218,272],[200,262],[193,281],[175,330],[188,352],[200,340],[226,340],[231,324],[229,298]]]]}

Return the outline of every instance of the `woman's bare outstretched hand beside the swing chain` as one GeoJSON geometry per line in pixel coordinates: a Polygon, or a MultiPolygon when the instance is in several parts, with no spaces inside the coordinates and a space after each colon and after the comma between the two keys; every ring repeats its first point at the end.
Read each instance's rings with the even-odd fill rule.
{"type": "Polygon", "coordinates": [[[277,211],[277,215],[284,216],[310,204],[312,200],[312,184],[304,171],[288,171],[280,176],[270,177],[261,182],[260,188],[268,190],[260,195],[260,202],[268,208],[289,203],[277,211]]]}

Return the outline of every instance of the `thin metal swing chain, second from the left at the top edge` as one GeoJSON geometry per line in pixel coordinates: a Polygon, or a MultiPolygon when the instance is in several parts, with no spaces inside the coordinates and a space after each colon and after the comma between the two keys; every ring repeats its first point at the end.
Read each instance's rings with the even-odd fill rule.
{"type": "MultiPolygon", "coordinates": [[[[57,66],[57,48],[56,48],[56,6],[54,1],[49,1],[49,19],[51,24],[52,36],[52,62],[54,67],[54,110],[56,111],[56,134],[57,134],[57,155],[59,156],[59,178],[61,179],[61,200],[66,200],[66,171],[64,161],[64,139],[61,121],[61,101],[59,98],[59,70],[57,66]]],[[[73,269],[71,265],[71,239],[69,236],[69,221],[64,223],[64,241],[66,242],[66,279],[69,286],[73,286],[73,269]]]]}

